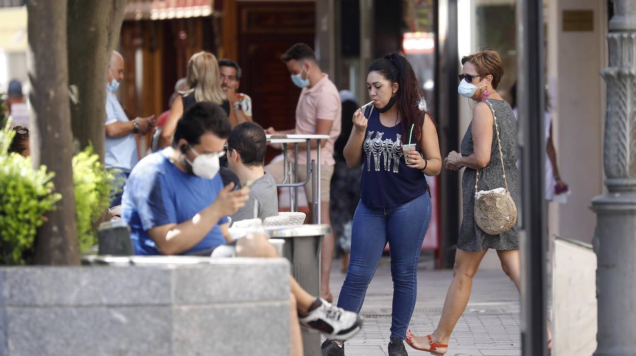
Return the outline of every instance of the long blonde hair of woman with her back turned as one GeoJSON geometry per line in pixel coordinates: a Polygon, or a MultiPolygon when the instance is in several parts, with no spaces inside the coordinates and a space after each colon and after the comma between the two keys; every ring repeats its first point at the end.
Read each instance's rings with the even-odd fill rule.
{"type": "Polygon", "coordinates": [[[184,94],[194,92],[195,100],[209,101],[221,105],[225,94],[221,90],[221,73],[216,57],[209,52],[198,52],[188,61],[188,75],[186,76],[190,90],[184,94]]]}

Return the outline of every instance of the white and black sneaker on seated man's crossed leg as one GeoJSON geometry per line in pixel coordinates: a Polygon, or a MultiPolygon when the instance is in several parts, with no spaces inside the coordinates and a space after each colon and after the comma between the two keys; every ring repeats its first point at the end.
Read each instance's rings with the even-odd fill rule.
{"type": "Polygon", "coordinates": [[[300,324],[311,331],[319,331],[328,339],[344,341],[362,329],[362,318],[353,311],[333,306],[320,298],[322,305],[299,317],[300,324]]]}

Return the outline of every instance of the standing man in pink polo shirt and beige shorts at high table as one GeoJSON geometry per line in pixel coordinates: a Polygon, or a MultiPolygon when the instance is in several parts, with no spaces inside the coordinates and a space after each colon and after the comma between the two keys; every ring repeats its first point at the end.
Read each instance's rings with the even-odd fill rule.
{"type": "MultiPolygon", "coordinates": [[[[272,127],[266,129],[267,134],[319,134],[329,135],[328,140],[321,141],[321,222],[329,224],[329,183],[333,176],[333,167],[336,161],[333,159],[333,147],[340,135],[340,121],[342,120],[342,104],[336,85],[329,80],[329,76],[322,73],[316,62],[314,51],[305,43],[296,43],[291,46],[282,57],[291,80],[302,89],[296,106],[296,128],[289,131],[275,131],[272,127]]],[[[311,157],[317,160],[317,142],[311,143],[311,157]]],[[[293,146],[293,145],[289,145],[293,146]]],[[[298,145],[298,179],[302,182],[307,178],[307,145],[298,145]]],[[[293,160],[293,157],[290,157],[293,160]]],[[[276,182],[283,181],[282,162],[269,164],[265,167],[276,182]]],[[[307,201],[312,207],[312,187],[305,185],[307,201]]],[[[324,236],[321,252],[321,297],[331,301],[329,292],[329,273],[331,272],[331,258],[334,248],[333,234],[324,236]]]]}

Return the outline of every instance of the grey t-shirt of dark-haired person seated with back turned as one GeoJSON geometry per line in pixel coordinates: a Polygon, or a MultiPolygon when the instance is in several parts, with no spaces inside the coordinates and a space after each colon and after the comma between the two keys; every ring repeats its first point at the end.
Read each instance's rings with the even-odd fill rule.
{"type": "Polygon", "coordinates": [[[265,220],[267,217],[278,215],[278,191],[276,181],[272,174],[265,172],[265,175],[254,181],[249,187],[249,200],[243,208],[240,208],[234,215],[232,221],[259,218],[265,220]],[[254,216],[256,212],[256,216],[254,216]]]}

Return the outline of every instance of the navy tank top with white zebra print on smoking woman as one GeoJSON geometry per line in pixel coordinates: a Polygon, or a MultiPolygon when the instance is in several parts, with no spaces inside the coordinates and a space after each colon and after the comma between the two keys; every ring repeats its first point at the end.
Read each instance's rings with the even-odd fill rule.
{"type": "MultiPolygon", "coordinates": [[[[371,105],[373,108],[373,105],[371,105]]],[[[369,118],[363,143],[364,166],[360,197],[366,206],[392,208],[422,196],[428,189],[426,176],[406,166],[402,153],[402,122],[386,127],[377,110],[365,113],[369,118]]],[[[408,143],[408,138],[404,140],[408,143]]],[[[416,142],[415,150],[422,152],[416,142]]]]}

